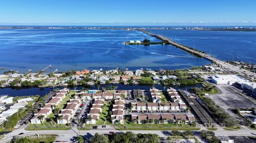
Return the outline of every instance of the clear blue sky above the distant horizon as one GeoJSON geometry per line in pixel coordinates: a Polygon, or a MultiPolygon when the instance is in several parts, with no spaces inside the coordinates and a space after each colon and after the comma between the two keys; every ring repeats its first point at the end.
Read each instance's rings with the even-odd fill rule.
{"type": "Polygon", "coordinates": [[[254,0],[7,0],[0,24],[252,25],[254,0]]]}

